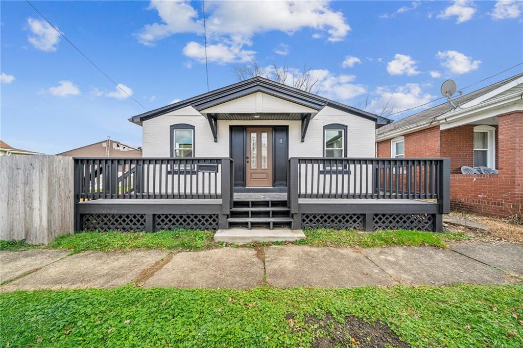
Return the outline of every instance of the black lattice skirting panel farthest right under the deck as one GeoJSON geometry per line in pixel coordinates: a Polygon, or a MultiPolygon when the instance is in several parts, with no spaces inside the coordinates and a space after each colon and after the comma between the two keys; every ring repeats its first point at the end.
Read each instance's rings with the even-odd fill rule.
{"type": "Polygon", "coordinates": [[[434,217],[431,214],[374,214],[372,225],[374,231],[400,228],[431,231],[434,227],[434,217]]]}

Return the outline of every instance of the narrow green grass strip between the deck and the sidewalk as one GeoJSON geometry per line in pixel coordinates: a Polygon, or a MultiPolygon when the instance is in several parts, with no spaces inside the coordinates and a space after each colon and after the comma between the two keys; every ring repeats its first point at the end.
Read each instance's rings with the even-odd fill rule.
{"type": "MultiPolygon", "coordinates": [[[[470,238],[460,232],[430,233],[407,230],[383,230],[372,233],[355,230],[335,231],[329,229],[305,230],[306,239],[293,244],[312,246],[354,246],[371,248],[388,245],[431,245],[440,248],[450,240],[470,238]]],[[[213,242],[212,231],[184,230],[146,232],[79,232],[63,235],[47,246],[27,245],[23,242],[0,241],[2,250],[25,250],[30,248],[66,249],[72,252],[87,250],[130,251],[134,249],[160,250],[206,250],[223,244],[213,242]]],[[[274,243],[283,244],[283,243],[274,243]]],[[[291,243],[289,243],[291,244],[291,243]]],[[[253,246],[260,244],[246,245],[253,246]]],[[[269,244],[263,244],[269,245],[269,244]]]]}

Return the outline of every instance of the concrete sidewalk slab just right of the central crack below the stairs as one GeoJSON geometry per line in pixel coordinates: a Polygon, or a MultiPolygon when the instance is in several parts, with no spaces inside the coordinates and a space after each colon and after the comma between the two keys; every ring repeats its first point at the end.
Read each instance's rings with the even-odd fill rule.
{"type": "Polygon", "coordinates": [[[391,277],[354,249],[310,246],[269,246],[265,268],[267,283],[281,288],[386,286],[391,277]]]}

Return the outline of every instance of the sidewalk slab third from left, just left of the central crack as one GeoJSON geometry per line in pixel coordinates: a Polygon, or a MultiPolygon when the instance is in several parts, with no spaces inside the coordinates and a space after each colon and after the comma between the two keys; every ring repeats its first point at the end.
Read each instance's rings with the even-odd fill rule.
{"type": "Polygon", "coordinates": [[[221,248],[178,253],[144,286],[246,289],[263,285],[263,274],[255,249],[221,248]]]}

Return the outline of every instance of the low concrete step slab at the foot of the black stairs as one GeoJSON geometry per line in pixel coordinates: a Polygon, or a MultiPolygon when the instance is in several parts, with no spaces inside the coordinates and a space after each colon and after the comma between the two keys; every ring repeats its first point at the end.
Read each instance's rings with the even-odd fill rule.
{"type": "Polygon", "coordinates": [[[294,242],[305,239],[305,234],[301,230],[291,230],[288,228],[277,228],[269,230],[266,228],[231,228],[228,230],[218,230],[214,233],[215,242],[246,244],[254,242],[294,242]]]}

